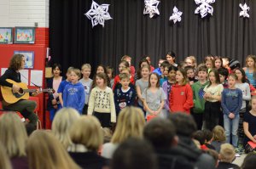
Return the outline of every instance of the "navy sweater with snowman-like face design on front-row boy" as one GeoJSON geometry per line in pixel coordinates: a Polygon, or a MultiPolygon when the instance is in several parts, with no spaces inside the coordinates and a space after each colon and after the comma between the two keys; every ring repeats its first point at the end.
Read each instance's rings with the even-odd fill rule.
{"type": "Polygon", "coordinates": [[[136,91],[133,87],[130,87],[128,91],[123,91],[122,87],[118,87],[114,90],[114,105],[116,114],[119,115],[119,111],[126,106],[134,105],[136,99],[136,91]]]}

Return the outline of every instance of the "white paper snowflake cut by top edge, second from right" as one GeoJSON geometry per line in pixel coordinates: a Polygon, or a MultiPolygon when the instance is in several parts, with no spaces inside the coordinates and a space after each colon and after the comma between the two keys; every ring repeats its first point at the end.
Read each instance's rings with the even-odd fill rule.
{"type": "Polygon", "coordinates": [[[195,3],[199,5],[195,9],[195,14],[201,14],[201,18],[207,16],[207,14],[213,14],[213,8],[210,5],[211,3],[215,3],[215,0],[195,0],[195,3]]]}

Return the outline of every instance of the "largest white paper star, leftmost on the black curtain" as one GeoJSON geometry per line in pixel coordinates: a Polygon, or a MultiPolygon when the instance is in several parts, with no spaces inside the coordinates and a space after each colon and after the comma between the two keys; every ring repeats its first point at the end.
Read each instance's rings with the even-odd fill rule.
{"type": "Polygon", "coordinates": [[[90,10],[85,14],[89,20],[91,20],[92,27],[95,25],[102,25],[104,27],[105,20],[111,20],[110,14],[108,13],[109,4],[99,5],[92,1],[90,10]]]}

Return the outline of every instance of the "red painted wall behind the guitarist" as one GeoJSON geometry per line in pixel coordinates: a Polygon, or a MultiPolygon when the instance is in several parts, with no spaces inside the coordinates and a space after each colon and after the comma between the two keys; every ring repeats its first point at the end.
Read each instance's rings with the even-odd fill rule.
{"type": "MultiPolygon", "coordinates": [[[[49,47],[49,28],[36,28],[36,42],[34,44],[0,44],[0,68],[8,68],[9,60],[14,54],[15,50],[18,51],[34,51],[34,69],[33,70],[43,70],[45,69],[45,57],[46,48],[49,47]]],[[[30,70],[28,73],[29,83],[30,83],[30,70]]],[[[44,75],[43,75],[44,79],[44,75]]],[[[44,87],[43,81],[43,87],[44,87]]],[[[29,88],[34,88],[30,87],[29,88]]],[[[42,122],[43,127],[45,127],[44,121],[44,93],[38,95],[40,100],[40,111],[38,112],[38,117],[42,122]]]]}

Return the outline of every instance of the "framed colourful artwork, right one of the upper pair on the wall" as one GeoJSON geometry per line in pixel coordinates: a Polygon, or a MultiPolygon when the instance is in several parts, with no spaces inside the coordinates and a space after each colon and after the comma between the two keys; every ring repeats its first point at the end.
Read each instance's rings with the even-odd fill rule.
{"type": "Polygon", "coordinates": [[[35,43],[35,28],[15,27],[15,43],[35,43]]]}

